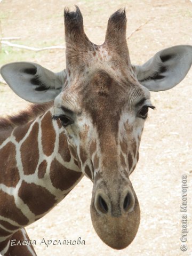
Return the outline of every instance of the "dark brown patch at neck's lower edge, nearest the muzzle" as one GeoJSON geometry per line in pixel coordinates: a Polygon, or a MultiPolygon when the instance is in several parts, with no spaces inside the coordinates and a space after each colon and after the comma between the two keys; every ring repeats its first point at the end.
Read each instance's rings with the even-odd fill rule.
{"type": "Polygon", "coordinates": [[[81,177],[81,172],[67,169],[54,158],[50,168],[50,178],[53,186],[61,190],[69,189],[81,177]]]}

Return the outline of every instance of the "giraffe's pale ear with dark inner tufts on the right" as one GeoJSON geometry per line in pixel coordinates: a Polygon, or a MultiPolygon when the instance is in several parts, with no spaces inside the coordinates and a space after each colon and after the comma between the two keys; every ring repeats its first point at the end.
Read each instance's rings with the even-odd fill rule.
{"type": "Polygon", "coordinates": [[[135,66],[140,84],[149,91],[165,91],[179,84],[192,64],[192,46],[178,45],[160,52],[142,66],[135,66]]]}

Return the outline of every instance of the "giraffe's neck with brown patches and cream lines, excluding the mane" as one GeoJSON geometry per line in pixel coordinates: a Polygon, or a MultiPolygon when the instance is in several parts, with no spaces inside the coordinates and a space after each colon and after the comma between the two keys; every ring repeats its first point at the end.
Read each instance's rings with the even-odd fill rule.
{"type": "Polygon", "coordinates": [[[43,217],[81,180],[71,150],[51,109],[0,132],[0,243],[43,217]]]}

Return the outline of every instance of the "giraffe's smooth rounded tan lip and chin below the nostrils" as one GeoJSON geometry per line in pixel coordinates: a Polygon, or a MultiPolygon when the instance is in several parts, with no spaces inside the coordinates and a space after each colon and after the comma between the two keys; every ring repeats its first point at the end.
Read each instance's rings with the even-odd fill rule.
{"type": "Polygon", "coordinates": [[[118,217],[111,214],[99,214],[94,207],[94,199],[90,206],[93,227],[100,239],[116,250],[122,250],[131,244],[135,238],[140,223],[140,207],[135,195],[134,209],[118,217]]]}

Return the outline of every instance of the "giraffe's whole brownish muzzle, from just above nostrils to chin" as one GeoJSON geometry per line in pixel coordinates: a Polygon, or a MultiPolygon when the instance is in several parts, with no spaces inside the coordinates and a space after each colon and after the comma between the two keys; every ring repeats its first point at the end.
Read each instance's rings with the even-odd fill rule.
{"type": "Polygon", "coordinates": [[[94,183],[91,220],[101,240],[108,246],[121,250],[137,234],[140,207],[130,181],[125,183],[125,180],[111,180],[94,183]]]}

